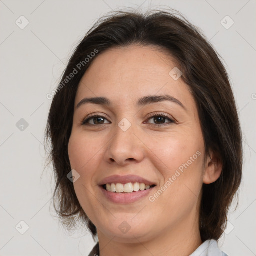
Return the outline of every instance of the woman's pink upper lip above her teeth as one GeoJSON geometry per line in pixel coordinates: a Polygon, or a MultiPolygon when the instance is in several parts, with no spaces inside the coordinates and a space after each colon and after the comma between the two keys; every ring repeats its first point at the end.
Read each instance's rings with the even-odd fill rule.
{"type": "Polygon", "coordinates": [[[102,179],[100,182],[99,182],[99,185],[105,185],[107,183],[123,183],[123,184],[126,184],[126,183],[135,183],[135,182],[138,182],[138,183],[145,183],[146,185],[155,185],[154,182],[151,182],[145,178],[142,178],[140,176],[136,176],[136,175],[125,175],[125,176],[121,176],[121,175],[112,175],[112,176],[109,176],[109,177],[106,177],[104,179],[102,179]]]}

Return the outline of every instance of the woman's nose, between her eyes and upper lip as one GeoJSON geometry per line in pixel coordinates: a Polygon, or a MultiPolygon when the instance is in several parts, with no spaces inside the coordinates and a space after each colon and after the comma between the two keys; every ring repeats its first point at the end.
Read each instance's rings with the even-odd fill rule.
{"type": "Polygon", "coordinates": [[[116,125],[115,135],[109,141],[104,157],[108,163],[125,166],[142,161],[144,152],[144,144],[138,134],[133,133],[132,126],[123,131],[116,125]]]}

